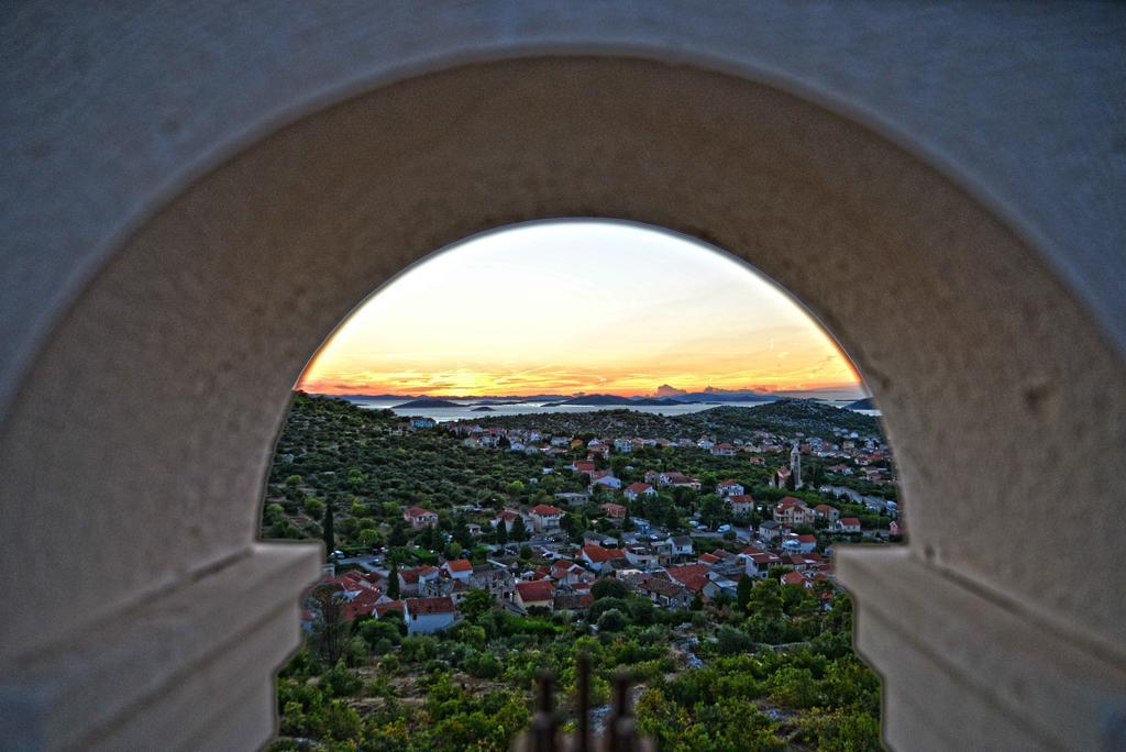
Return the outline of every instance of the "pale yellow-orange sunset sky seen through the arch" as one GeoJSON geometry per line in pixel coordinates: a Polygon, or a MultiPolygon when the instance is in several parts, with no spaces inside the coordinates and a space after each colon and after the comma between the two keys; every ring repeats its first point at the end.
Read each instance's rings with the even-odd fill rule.
{"type": "Polygon", "coordinates": [[[653,394],[850,387],[851,364],[789,296],[686,238],[535,223],[450,247],[368,298],[298,388],[327,394],[653,394]]]}

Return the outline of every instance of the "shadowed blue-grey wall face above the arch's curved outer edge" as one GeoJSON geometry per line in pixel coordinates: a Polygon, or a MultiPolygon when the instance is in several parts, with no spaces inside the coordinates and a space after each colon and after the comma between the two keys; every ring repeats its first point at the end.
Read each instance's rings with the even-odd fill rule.
{"type": "Polygon", "coordinates": [[[278,124],[410,73],[557,53],[731,71],[868,123],[1013,217],[1126,347],[1126,10],[985,5],[12,5],[0,390],[123,236],[278,124]]]}

